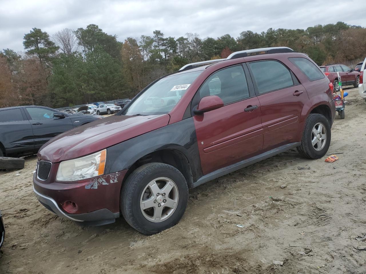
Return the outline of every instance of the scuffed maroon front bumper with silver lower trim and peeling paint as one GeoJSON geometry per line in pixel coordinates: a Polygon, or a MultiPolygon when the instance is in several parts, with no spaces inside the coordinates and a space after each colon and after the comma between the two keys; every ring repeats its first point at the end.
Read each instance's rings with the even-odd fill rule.
{"type": "MultiPolygon", "coordinates": [[[[56,164],[55,164],[56,165],[56,164]]],[[[109,224],[120,216],[120,189],[127,171],[115,172],[79,182],[61,183],[52,179],[46,181],[33,176],[33,191],[38,201],[60,217],[80,225],[96,226],[109,224]],[[78,208],[67,212],[63,205],[74,202],[78,208]]]]}

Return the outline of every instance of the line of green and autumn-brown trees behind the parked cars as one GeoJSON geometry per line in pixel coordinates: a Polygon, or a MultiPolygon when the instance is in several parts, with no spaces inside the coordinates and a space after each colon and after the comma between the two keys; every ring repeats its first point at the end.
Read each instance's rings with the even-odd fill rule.
{"type": "Polygon", "coordinates": [[[226,58],[238,50],[287,46],[318,65],[366,56],[366,28],[344,22],[303,29],[247,30],[200,38],[197,33],[166,37],[160,30],[123,42],[96,24],[53,35],[33,28],[25,52],[0,51],[0,107],[50,107],[131,98],[151,81],[190,62],[226,58]]]}

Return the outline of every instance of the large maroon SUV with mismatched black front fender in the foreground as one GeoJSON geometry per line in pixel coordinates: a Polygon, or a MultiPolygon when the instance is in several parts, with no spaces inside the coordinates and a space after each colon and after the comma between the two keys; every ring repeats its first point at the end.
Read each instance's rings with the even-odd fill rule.
{"type": "Polygon", "coordinates": [[[332,91],[309,57],[287,47],[185,65],[119,113],[45,144],[34,193],[79,224],[108,224],[122,214],[142,233],[160,232],[182,218],[189,188],[292,148],[324,156],[332,91]],[[177,103],[145,103],[170,91],[179,91],[177,103]]]}

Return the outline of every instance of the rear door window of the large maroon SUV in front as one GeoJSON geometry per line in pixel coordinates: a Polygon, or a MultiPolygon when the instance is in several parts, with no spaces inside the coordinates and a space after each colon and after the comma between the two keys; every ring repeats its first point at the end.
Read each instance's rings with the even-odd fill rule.
{"type": "Polygon", "coordinates": [[[291,73],[277,61],[259,61],[249,63],[260,94],[280,90],[294,85],[291,73]]]}

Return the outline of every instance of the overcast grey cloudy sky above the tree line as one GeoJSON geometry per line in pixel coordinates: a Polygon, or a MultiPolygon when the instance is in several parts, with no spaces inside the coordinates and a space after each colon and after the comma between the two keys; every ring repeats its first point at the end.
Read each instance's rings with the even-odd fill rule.
{"type": "Polygon", "coordinates": [[[245,30],[307,28],[343,21],[366,27],[365,0],[0,0],[0,50],[23,50],[31,28],[52,35],[63,28],[97,24],[119,41],[152,35],[179,37],[187,32],[201,38],[224,34],[238,37],[245,30]]]}

